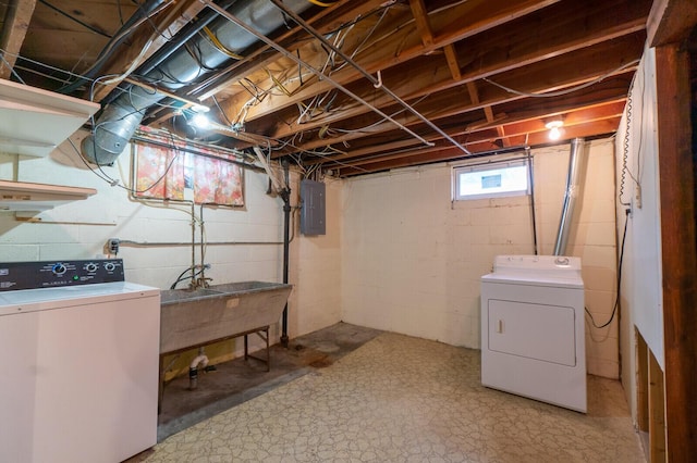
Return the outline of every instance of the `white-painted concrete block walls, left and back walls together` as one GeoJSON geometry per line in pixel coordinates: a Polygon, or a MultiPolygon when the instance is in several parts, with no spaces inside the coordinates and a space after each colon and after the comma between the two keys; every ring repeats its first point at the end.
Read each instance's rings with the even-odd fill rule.
{"type": "MultiPolygon", "coordinates": [[[[78,139],[75,140],[78,142],[78,139]]],[[[553,247],[563,199],[568,146],[534,152],[538,241],[553,247]]],[[[127,184],[129,154],[103,172],[127,184]]],[[[589,143],[587,188],[578,201],[567,253],[584,260],[586,301],[599,321],[614,299],[612,141],[589,143]]],[[[129,199],[85,167],[68,143],[37,159],[0,154],[0,178],[93,187],[95,197],[46,211],[40,223],[0,212],[2,260],[88,259],[109,238],[137,242],[192,239],[186,204],[145,204],[129,199]]],[[[533,253],[527,197],[451,201],[451,167],[400,170],[327,182],[327,235],[299,234],[298,176],[294,205],[289,300],[291,338],[344,320],[348,323],[479,347],[479,278],[497,254],[533,253]]],[[[204,210],[206,238],[216,241],[281,241],[282,201],[266,195],[264,174],[246,172],[244,210],[204,210]]],[[[200,216],[199,208],[194,211],[200,216]]],[[[196,241],[199,240],[196,229],[196,241]]],[[[194,260],[200,261],[195,249],[194,260]]],[[[192,262],[191,248],[124,243],[129,280],[168,288],[192,262]]],[[[213,283],[282,279],[282,246],[209,246],[206,276],[213,283]]],[[[273,333],[279,335],[278,327],[273,333]]],[[[587,325],[588,367],[616,377],[616,325],[587,325]]],[[[234,345],[221,355],[239,353],[234,345]],[[233,353],[231,353],[233,352],[233,353]]]]}

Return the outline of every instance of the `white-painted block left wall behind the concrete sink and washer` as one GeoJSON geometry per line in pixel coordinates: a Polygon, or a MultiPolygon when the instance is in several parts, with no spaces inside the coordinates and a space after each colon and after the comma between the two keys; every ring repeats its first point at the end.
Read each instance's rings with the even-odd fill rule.
{"type": "MultiPolygon", "coordinates": [[[[84,133],[72,137],[75,146],[84,133]]],[[[130,150],[126,150],[114,166],[103,166],[97,174],[117,178],[121,185],[129,184],[130,150]]],[[[34,216],[39,223],[21,221],[14,212],[0,211],[0,261],[40,261],[91,259],[103,254],[109,238],[124,240],[119,258],[125,266],[126,279],[142,285],[167,289],[175,278],[192,264],[192,209],[189,204],[161,201],[139,202],[130,199],[127,191],[112,187],[90,172],[81,161],[73,147],[65,142],[47,158],[20,157],[0,153],[0,179],[95,188],[97,195],[84,201],[57,207],[34,216]],[[138,243],[182,242],[183,246],[134,246],[138,243]]],[[[283,239],[283,202],[266,195],[268,179],[265,174],[245,171],[245,208],[206,207],[203,212],[207,242],[264,241],[280,243],[283,239]]],[[[292,178],[293,191],[297,191],[297,176],[292,178]]],[[[329,188],[328,210],[340,214],[337,204],[340,195],[337,187],[329,188]]],[[[200,220],[200,208],[194,215],[200,220]]],[[[338,287],[340,263],[337,232],[341,222],[335,216],[329,220],[327,237],[305,238],[296,230],[291,246],[295,267],[291,267],[294,291],[289,301],[291,338],[340,320],[340,292],[335,289],[322,292],[327,285],[338,287]],[[332,248],[335,249],[332,249],[332,248]],[[307,255],[305,255],[307,254],[307,255]],[[298,265],[297,263],[302,263],[298,265]],[[315,268],[315,264],[317,267],[315,268]],[[302,268],[302,271],[301,271],[302,268]],[[307,284],[301,281],[307,278],[307,284]],[[334,281],[334,279],[337,281],[334,281]],[[302,305],[302,309],[299,306],[302,305]]],[[[196,226],[195,241],[200,240],[200,228],[196,226]]],[[[258,246],[208,246],[205,262],[211,265],[206,276],[217,283],[243,280],[282,280],[283,247],[258,246]]],[[[194,250],[195,263],[200,263],[200,248],[194,250]]],[[[184,288],[187,280],[178,287],[184,288]]],[[[272,340],[278,340],[280,326],[273,326],[272,340]]],[[[154,334],[159,336],[159,334],[154,334]]],[[[254,348],[261,341],[249,338],[254,348]]],[[[242,342],[207,348],[213,362],[236,356],[242,342]]],[[[186,372],[186,365],[195,352],[182,355],[174,372],[186,372]]]]}

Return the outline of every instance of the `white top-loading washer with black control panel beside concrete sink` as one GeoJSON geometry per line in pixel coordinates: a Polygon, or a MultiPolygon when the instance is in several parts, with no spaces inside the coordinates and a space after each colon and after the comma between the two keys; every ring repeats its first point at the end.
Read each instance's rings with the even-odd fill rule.
{"type": "Polygon", "coordinates": [[[0,461],[123,461],[157,442],[160,291],[121,260],[0,263],[0,461]]]}

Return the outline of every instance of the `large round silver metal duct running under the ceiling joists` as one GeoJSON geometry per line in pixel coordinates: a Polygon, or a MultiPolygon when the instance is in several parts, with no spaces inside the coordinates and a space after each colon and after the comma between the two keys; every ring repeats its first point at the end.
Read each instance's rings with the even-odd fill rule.
{"type": "MultiPolygon", "coordinates": [[[[307,0],[286,0],[285,4],[296,13],[311,7],[307,0]]],[[[237,1],[228,11],[265,35],[285,24],[283,12],[266,0],[237,1]]],[[[207,33],[200,32],[140,79],[174,91],[231,61],[230,52],[244,55],[244,51],[257,41],[255,36],[225,17],[213,20],[208,29],[224,50],[216,47],[207,33]],[[192,54],[189,50],[196,50],[196,53],[192,54]]],[[[147,109],[164,97],[137,86],[129,87],[105,107],[93,134],[83,140],[85,159],[97,165],[112,164],[126,148],[147,109]]]]}

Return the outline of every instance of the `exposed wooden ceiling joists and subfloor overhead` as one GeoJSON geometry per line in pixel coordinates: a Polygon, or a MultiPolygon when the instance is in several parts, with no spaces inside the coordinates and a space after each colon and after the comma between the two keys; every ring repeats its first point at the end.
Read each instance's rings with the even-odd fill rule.
{"type": "MultiPolygon", "coordinates": [[[[225,3],[274,8],[270,0],[225,3]]],[[[575,0],[340,0],[327,8],[308,2],[303,20],[362,70],[288,14],[267,37],[372,108],[257,41],[244,50],[220,49],[236,58],[193,82],[159,87],[166,98],[144,111],[142,124],[227,148],[258,145],[270,159],[289,157],[308,172],[340,176],[546,145],[545,123],[552,116],[564,118],[564,139],[606,136],[617,129],[651,7],[650,0],[587,0],[583,7],[575,0]],[[195,103],[211,109],[213,129],[186,124],[195,103]]],[[[157,89],[157,82],[144,77],[144,63],[168,54],[211,11],[200,0],[11,0],[0,7],[7,61],[0,76],[57,89],[97,63],[91,78],[98,82],[69,87],[71,95],[91,95],[106,104],[130,91],[129,83],[157,89]],[[112,46],[111,58],[97,62],[122,24],[152,7],[147,21],[112,46]]],[[[205,34],[197,29],[194,36],[205,34]]],[[[191,45],[181,47],[196,57],[191,45]]]]}

